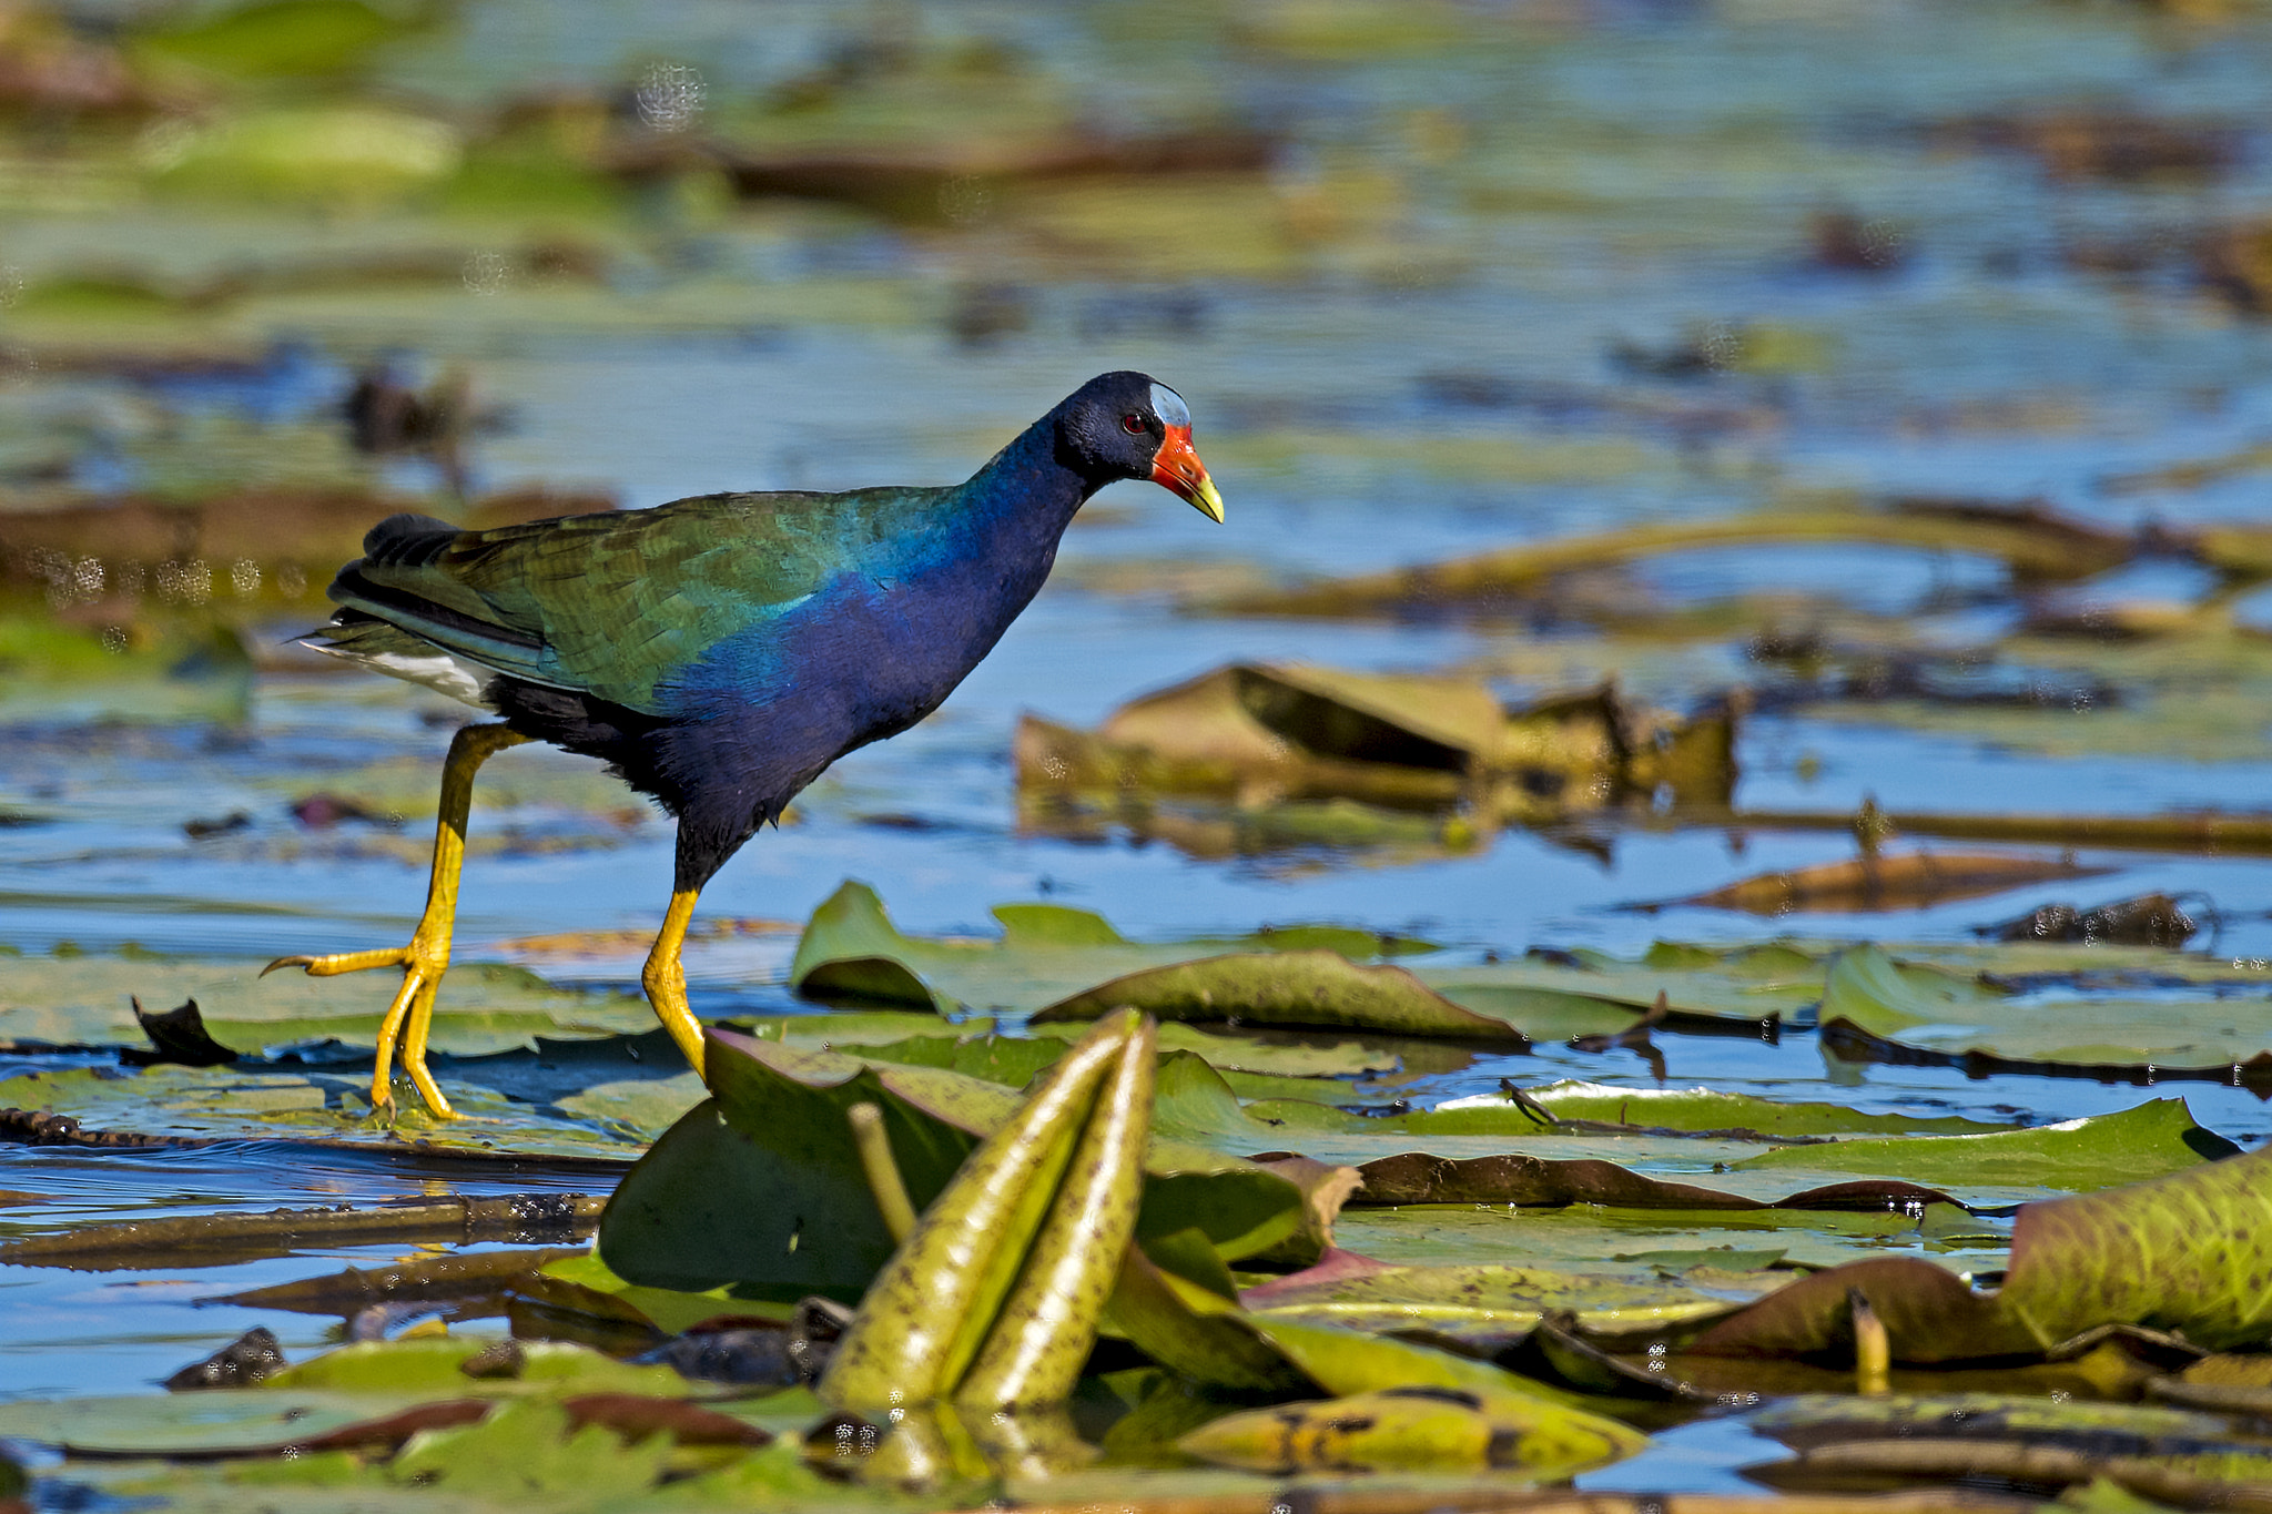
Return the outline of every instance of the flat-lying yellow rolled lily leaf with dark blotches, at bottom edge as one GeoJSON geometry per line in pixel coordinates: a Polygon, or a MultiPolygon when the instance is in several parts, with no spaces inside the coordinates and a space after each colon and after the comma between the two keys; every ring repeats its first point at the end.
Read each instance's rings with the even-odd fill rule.
{"type": "Polygon", "coordinates": [[[1581,1425],[1511,1414],[1456,1387],[1390,1387],[1247,1410],[1193,1430],[1177,1448],[1202,1462],[1279,1478],[1486,1469],[1561,1478],[1624,1455],[1581,1425]]]}

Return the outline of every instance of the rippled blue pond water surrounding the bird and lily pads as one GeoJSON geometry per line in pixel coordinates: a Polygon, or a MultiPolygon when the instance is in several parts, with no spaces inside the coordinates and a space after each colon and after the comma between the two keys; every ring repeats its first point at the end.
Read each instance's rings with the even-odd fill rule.
{"type": "MultiPolygon", "coordinates": [[[[98,11],[130,27],[161,20],[84,7],[98,11]]],[[[838,763],[704,892],[704,917],[777,924],[698,942],[700,1015],[825,1012],[786,987],[788,960],[795,928],[845,878],[870,883],[911,935],[988,935],[991,906],[1052,901],[1138,940],[1340,922],[1438,942],[1436,960],[1459,962],[1534,947],[1634,956],[1656,940],[1972,942],[2054,899],[2163,892],[2202,922],[2190,942],[2202,960],[2272,958],[2263,851],[2054,842],[2018,851],[2065,849],[2093,876],[1763,919],[1677,901],[1838,863],[1854,856],[1852,833],[1640,806],[1484,826],[1465,847],[1325,833],[1209,849],[1125,819],[1050,826],[1020,808],[1011,756],[1022,713],[1095,726],[1136,695],[1234,661],[1459,672],[1506,699],[1615,676],[1638,701],[1693,710],[1740,685],[1788,692],[1788,667],[1759,647],[1809,631],[1831,665],[1970,658],[1965,676],[1988,688],[2102,697],[1763,697],[1736,735],[1743,810],[2263,810],[2272,706],[2254,692],[2272,690],[2272,649],[2247,633],[2217,642],[2238,651],[2199,674],[2208,692],[2195,697],[2156,670],[2167,642],[2031,631],[2054,611],[2165,606],[2179,636],[2206,633],[2233,586],[2177,554],[2054,592],[1970,552],[1718,547],[1604,567],[1561,608],[1513,617],[1225,608],[1290,583],[1761,508],[1940,497],[2043,502],[2122,533],[2261,522],[2272,272],[2220,252],[2272,245],[2272,25],[2254,7],[650,11],[477,0],[311,91],[450,123],[461,175],[486,161],[504,102],[604,100],[652,77],[641,70],[657,59],[700,68],[704,129],[738,143],[984,157],[1009,141],[1016,161],[1016,143],[1191,120],[1259,132],[1268,154],[1195,175],[966,175],[950,179],[968,179],[961,200],[932,207],[943,216],[734,202],[702,173],[493,204],[479,186],[425,179],[345,204],[320,188],[173,184],[150,168],[152,141],[173,141],[150,136],[164,123],[23,127],[0,175],[39,175],[41,188],[14,204],[0,195],[14,291],[0,309],[0,508],[352,486],[448,511],[448,468],[475,497],[545,486],[623,506],[947,481],[1093,370],[1141,368],[1179,388],[1229,524],[1147,486],[1100,495],[1050,588],[950,704],[838,763]],[[997,61],[984,61],[988,48],[997,61]],[[886,61],[843,61],[870,54],[886,61]],[[836,79],[813,86],[811,111],[768,104],[811,77],[836,79]],[[511,261],[545,238],[598,272],[482,272],[484,256],[511,261]],[[411,252],[463,266],[463,279],[357,272],[357,259],[411,252]],[[279,275],[229,300],[179,293],[241,263],[323,277],[279,275]],[[98,275],[148,300],[66,300],[73,279],[98,275]],[[416,447],[379,459],[348,447],[341,395],[379,359],[420,388],[463,375],[486,420],[448,468],[416,447]]],[[[293,95],[273,77],[223,77],[220,118],[293,95]]],[[[184,161],[207,148],[225,145],[195,138],[184,161]]],[[[0,685],[0,817],[20,819],[0,824],[0,951],[20,953],[0,956],[0,1035],[18,1008],[11,965],[120,949],[250,962],[407,937],[423,903],[423,794],[463,710],[284,647],[325,613],[327,572],[309,563],[307,592],[291,599],[273,592],[275,565],[259,595],[232,599],[223,583],[200,615],[234,626],[248,661],[218,667],[170,651],[200,615],[152,604],[143,620],[159,651],[118,658],[116,676],[100,663],[64,672],[80,667],[55,651],[64,640],[36,638],[93,645],[141,626],[134,606],[9,579],[11,636],[32,651],[9,654],[0,685]],[[377,819],[309,824],[291,810],[309,794],[350,797],[377,819]]],[[[2245,622],[2247,602],[2236,604],[2245,622]]],[[[638,944],[513,944],[652,931],[670,885],[668,819],[554,751],[507,754],[484,783],[493,801],[475,810],[459,960],[504,956],[554,983],[636,992],[638,944]]],[[[377,1015],[389,985],[364,987],[377,1015]]],[[[2258,1033],[2272,1024],[2263,990],[2240,990],[2233,1008],[2258,1033]]],[[[125,1003],[114,1010],[125,1017],[125,1003]]],[[[111,1051],[9,1046],[0,1078],[116,1065],[111,1051]]],[[[1774,1044],[1656,1035],[1652,1051],[1654,1062],[1540,1042],[1525,1058],[1447,1058],[1338,1092],[1434,1103],[1506,1076],[1574,1076],[2022,1124],[2174,1092],[2242,1146],[2272,1135],[2256,1092],[2154,1087],[2147,1069],[2099,1080],[1858,1065],[1827,1055],[1806,1024],[1774,1044]]],[[[436,1065],[445,1083],[457,1076],[452,1058],[436,1065]]],[[[350,1060],[334,1071],[357,1076],[350,1060]]],[[[650,1074],[616,1055],[591,1080],[650,1074]]],[[[611,1183],[541,1160],[277,1142],[9,1153],[0,1187],[36,1203],[0,1210],[0,1237],[150,1212],[611,1183]]],[[[134,1391],[252,1323],[298,1357],[336,1326],[198,1301],[400,1253],[0,1267],[0,1401],[134,1391]]],[[[1759,1455],[1747,1430],[1713,1421],[1588,1484],[1747,1487],[1729,1469],[1759,1455]]]]}

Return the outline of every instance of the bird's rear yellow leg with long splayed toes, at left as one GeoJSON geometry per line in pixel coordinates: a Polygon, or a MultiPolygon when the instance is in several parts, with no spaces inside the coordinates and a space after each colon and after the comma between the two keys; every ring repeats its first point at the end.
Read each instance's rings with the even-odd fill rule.
{"type": "Polygon", "coordinates": [[[434,824],[434,876],[427,883],[427,908],[407,947],[341,951],[320,958],[291,956],[261,969],[261,976],[268,976],[277,967],[304,967],[311,978],[332,978],[366,967],[402,969],[402,987],[395,990],[395,1001],[386,1006],[386,1019],[379,1021],[379,1055],[370,1071],[373,1108],[393,1108],[395,1103],[393,1058],[400,1040],[402,1069],[418,1085],[425,1105],[443,1119],[457,1115],[434,1083],[434,1074],[427,1071],[425,1046],[427,1031],[434,1026],[434,994],[441,990],[441,976],[450,972],[450,937],[457,933],[457,874],[466,863],[473,774],[495,754],[525,740],[529,738],[511,726],[466,726],[452,738],[450,756],[441,765],[441,819],[434,824]]]}

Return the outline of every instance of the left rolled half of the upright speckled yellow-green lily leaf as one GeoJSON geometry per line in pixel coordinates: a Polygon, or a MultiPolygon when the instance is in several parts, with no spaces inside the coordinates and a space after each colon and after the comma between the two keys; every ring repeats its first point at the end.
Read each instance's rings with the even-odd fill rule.
{"type": "Polygon", "coordinates": [[[820,1398],[847,1410],[952,1396],[1018,1278],[1136,1015],[1097,1024],[970,1153],[861,1301],[820,1398]]]}

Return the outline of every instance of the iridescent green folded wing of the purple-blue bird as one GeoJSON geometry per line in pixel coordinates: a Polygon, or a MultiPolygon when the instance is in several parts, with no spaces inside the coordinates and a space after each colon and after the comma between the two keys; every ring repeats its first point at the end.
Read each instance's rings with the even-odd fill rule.
{"type": "Polygon", "coordinates": [[[398,515],[332,599],[498,672],[661,713],[673,670],[870,561],[938,493],[702,495],[493,531],[398,515]]]}

